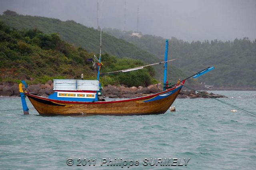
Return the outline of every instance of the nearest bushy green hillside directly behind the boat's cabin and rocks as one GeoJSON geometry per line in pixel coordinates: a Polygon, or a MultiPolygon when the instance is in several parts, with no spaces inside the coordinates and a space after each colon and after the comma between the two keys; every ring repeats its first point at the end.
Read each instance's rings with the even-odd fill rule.
{"type": "MultiPolygon", "coordinates": [[[[28,83],[46,83],[49,79],[69,78],[96,79],[92,61],[94,53],[88,53],[81,47],[74,47],[61,40],[56,33],[44,34],[33,30],[18,31],[0,22],[0,82],[18,83],[27,79],[28,83]]],[[[108,54],[102,55],[102,72],[126,69],[144,65],[140,60],[119,59],[108,54]]],[[[155,70],[152,67],[102,77],[103,85],[150,85],[155,70]]]]}

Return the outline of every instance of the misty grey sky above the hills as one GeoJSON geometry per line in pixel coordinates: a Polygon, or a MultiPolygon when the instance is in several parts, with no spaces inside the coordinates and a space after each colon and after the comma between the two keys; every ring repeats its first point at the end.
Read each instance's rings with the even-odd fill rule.
{"type": "MultiPolygon", "coordinates": [[[[99,25],[124,30],[124,1],[99,0],[99,25]]],[[[126,30],[185,41],[256,38],[256,0],[126,0],[126,30]]],[[[97,0],[0,0],[0,13],[74,20],[96,28],[97,0]]]]}

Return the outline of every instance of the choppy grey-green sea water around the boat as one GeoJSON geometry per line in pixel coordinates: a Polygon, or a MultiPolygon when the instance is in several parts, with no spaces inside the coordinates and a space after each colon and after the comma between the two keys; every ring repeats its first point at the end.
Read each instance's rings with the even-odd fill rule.
{"type": "MultiPolygon", "coordinates": [[[[256,113],[256,91],[213,93],[256,113]]],[[[176,112],[122,117],[0,111],[0,169],[122,169],[100,166],[102,158],[138,159],[132,169],[255,169],[256,117],[230,112],[214,99],[176,99],[173,105],[176,112]],[[74,158],[74,165],[68,166],[67,158],[74,158]],[[97,158],[96,166],[78,167],[77,158],[97,158]],[[143,166],[144,158],[191,160],[186,167],[160,167],[143,166]]],[[[21,108],[19,97],[0,97],[0,110],[16,108],[21,108]]]]}

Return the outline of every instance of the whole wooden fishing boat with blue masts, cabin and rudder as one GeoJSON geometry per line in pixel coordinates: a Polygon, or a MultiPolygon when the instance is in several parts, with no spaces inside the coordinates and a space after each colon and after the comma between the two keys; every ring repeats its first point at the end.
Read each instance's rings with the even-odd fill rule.
{"type": "MultiPolygon", "coordinates": [[[[100,36],[101,37],[101,36],[100,36]]],[[[101,95],[100,74],[101,67],[101,40],[100,40],[100,58],[98,61],[98,79],[97,80],[74,80],[74,79],[54,79],[54,93],[48,98],[32,95],[29,91],[23,91],[22,84],[27,88],[25,81],[20,83],[20,96],[24,114],[28,114],[28,107],[25,97],[27,96],[34,108],[40,115],[151,115],[165,113],[174,100],[186,79],[197,78],[214,67],[208,67],[176,85],[168,86],[167,82],[167,62],[168,60],[168,40],[166,40],[165,58],[163,62],[154,63],[156,65],[164,63],[164,86],[160,93],[137,97],[134,99],[123,99],[105,101],[101,95]]],[[[150,65],[144,65],[132,69],[112,71],[109,73],[128,72],[143,69],[150,65]]]]}

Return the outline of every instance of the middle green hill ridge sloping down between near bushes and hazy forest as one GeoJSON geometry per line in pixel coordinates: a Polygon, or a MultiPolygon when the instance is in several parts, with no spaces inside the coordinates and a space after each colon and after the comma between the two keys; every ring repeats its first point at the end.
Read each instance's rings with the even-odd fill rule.
{"type": "MultiPolygon", "coordinates": [[[[9,12],[10,13],[10,12],[9,12]]],[[[100,31],[94,28],[88,28],[78,24],[72,20],[66,22],[58,19],[39,17],[39,16],[23,16],[4,14],[0,16],[0,21],[6,22],[8,26],[12,26],[18,30],[38,29],[46,34],[58,33],[62,40],[65,40],[77,47],[82,47],[90,53],[98,53],[100,47],[100,31]]],[[[164,44],[165,41],[163,41],[164,44]]],[[[161,50],[164,52],[165,45],[161,50]]],[[[132,43],[128,43],[122,39],[115,38],[103,32],[102,34],[102,52],[109,55],[115,55],[118,58],[140,59],[145,63],[157,63],[163,61],[164,57],[158,58],[152,53],[142,50],[132,43]]],[[[176,62],[176,61],[175,61],[176,62]]],[[[174,67],[173,63],[168,64],[169,80],[176,82],[179,78],[187,77],[180,69],[174,67]]],[[[162,81],[163,66],[154,66],[155,79],[162,81]]],[[[130,73],[129,73],[130,74],[130,73]]],[[[131,73],[132,74],[132,73],[131,73]]]]}

